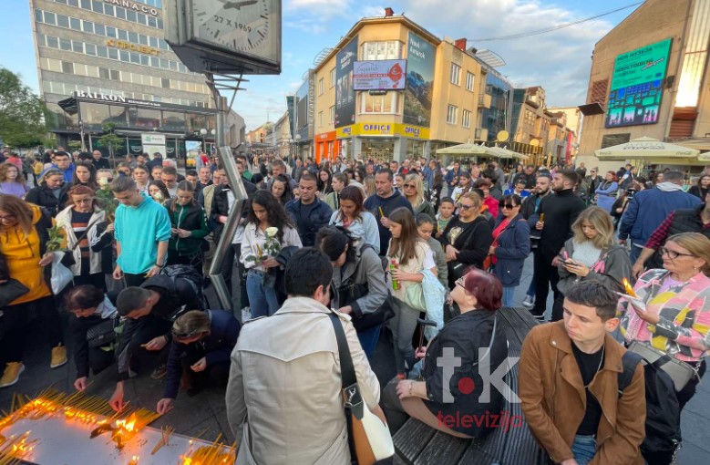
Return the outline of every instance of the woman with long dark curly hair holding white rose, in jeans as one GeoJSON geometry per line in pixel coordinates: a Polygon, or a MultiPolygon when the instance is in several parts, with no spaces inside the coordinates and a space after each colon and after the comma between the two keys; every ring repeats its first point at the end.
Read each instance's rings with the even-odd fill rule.
{"type": "Polygon", "coordinates": [[[244,227],[240,256],[248,270],[246,290],[254,318],[271,316],[279,309],[276,290],[263,282],[265,274],[281,266],[276,255],[288,246],[303,247],[293,222],[270,191],[256,191],[244,227]],[[272,237],[278,242],[275,248],[270,246],[272,237]]]}

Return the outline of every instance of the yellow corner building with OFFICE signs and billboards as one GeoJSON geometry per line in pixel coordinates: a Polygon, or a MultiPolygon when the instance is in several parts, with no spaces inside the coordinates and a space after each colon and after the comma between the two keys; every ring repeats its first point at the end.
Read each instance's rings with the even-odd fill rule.
{"type": "Polygon", "coordinates": [[[316,160],[404,160],[488,140],[479,115],[490,108],[485,72],[466,40],[442,40],[391,9],[358,21],[324,53],[313,81],[316,160]],[[405,60],[406,69],[392,68],[404,85],[355,90],[355,61],[380,60],[405,60]]]}

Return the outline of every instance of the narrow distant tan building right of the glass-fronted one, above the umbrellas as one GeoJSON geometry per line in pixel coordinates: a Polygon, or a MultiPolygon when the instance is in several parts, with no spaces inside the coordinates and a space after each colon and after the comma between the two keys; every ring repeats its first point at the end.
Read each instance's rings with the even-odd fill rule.
{"type": "Polygon", "coordinates": [[[545,105],[545,89],[540,86],[513,90],[511,150],[530,155],[533,164],[550,164],[547,152],[552,115],[545,105]]]}

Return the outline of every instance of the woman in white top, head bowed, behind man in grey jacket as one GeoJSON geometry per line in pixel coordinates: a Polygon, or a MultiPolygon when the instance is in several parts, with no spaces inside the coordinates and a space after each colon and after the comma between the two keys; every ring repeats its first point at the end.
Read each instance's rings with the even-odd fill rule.
{"type": "Polygon", "coordinates": [[[343,226],[355,241],[364,241],[380,253],[380,232],[375,215],[363,206],[365,196],[360,188],[345,186],[340,191],[340,208],[333,212],[329,224],[343,226]]]}

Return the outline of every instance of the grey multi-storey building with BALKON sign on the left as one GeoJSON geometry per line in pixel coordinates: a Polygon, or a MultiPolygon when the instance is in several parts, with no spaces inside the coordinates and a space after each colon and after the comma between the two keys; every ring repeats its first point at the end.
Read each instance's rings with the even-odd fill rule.
{"type": "MultiPolygon", "coordinates": [[[[105,123],[140,152],[141,134],[166,136],[169,156],[215,129],[211,91],[164,39],[162,0],[30,0],[37,72],[57,141],[96,147],[105,123]]],[[[227,139],[243,120],[228,117],[227,139]]],[[[100,149],[100,148],[99,148],[100,149]]]]}

